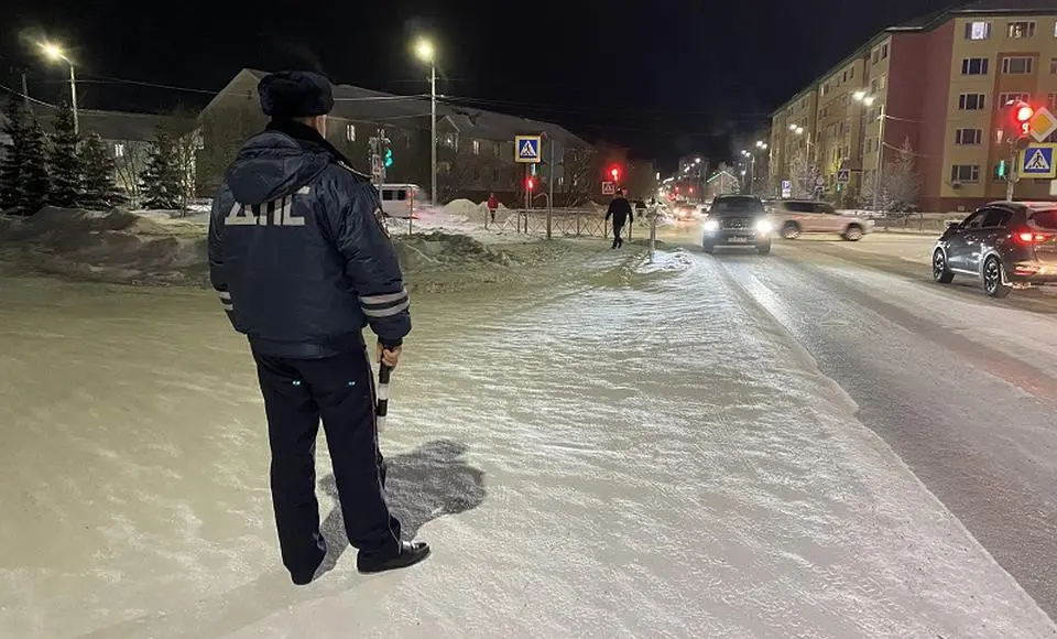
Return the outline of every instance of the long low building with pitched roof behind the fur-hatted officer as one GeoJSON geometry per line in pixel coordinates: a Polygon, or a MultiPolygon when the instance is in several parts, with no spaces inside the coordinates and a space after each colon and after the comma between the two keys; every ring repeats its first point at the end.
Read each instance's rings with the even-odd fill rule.
{"type": "MultiPolygon", "coordinates": [[[[266,123],[257,86],[265,72],[243,69],[203,109],[199,124],[199,192],[216,189],[235,153],[266,123]]],[[[333,87],[335,107],[327,119],[327,139],[363,173],[371,172],[371,139],[383,137],[392,150],[385,182],[431,188],[429,100],[349,85],[333,87]]],[[[534,196],[548,193],[553,175],[555,203],[584,199],[600,191],[591,147],[564,128],[471,107],[437,106],[437,191],[440,202],[456,197],[481,201],[489,193],[508,206],[521,206],[526,172],[534,172],[534,196]],[[543,136],[543,162],[534,167],[514,159],[514,137],[543,136]],[[552,151],[553,149],[553,151],[552,151]],[[552,166],[552,158],[554,165],[552,166]]],[[[534,197],[534,204],[545,199],[534,197]]]]}

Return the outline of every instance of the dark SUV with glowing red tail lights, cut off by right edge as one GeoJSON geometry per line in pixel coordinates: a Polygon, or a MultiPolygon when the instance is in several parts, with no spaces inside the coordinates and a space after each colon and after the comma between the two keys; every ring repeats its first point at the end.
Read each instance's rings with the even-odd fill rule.
{"type": "Polygon", "coordinates": [[[983,292],[1057,284],[1057,203],[994,202],[951,223],[933,249],[933,279],[977,278],[983,292]]]}

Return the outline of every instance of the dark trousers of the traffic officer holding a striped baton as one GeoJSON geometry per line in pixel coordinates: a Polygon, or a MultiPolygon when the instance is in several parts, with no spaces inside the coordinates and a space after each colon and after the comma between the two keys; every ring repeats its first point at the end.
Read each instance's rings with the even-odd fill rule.
{"type": "Polygon", "coordinates": [[[349,543],[364,553],[400,541],[400,521],[385,502],[378,447],[374,378],[367,350],[325,359],[253,354],[268,414],[271,484],[283,565],[312,576],[326,554],[319,534],[315,452],[319,420],[327,437],[349,543]]]}

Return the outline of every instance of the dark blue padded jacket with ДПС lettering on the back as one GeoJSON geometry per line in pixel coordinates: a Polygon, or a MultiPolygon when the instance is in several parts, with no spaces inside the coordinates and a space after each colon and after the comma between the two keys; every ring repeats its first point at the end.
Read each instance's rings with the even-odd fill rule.
{"type": "Polygon", "coordinates": [[[209,275],[236,331],[262,355],[320,358],[362,348],[370,324],[395,346],[411,302],[370,181],[314,129],[250,139],[209,220],[209,275]]]}

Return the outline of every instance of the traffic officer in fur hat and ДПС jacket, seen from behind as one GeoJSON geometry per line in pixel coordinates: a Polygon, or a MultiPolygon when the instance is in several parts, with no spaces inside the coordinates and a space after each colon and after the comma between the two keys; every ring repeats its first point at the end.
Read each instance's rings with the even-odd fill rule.
{"type": "Polygon", "coordinates": [[[378,194],[324,138],[334,107],[326,78],[276,73],[258,91],[271,122],[239,151],[214,201],[209,274],[257,361],[283,564],[304,585],[326,555],[315,494],[322,419],[357,568],[410,566],[429,546],[401,540],[385,501],[362,334],[370,325],[379,359],[395,366],[411,332],[378,194]]]}

